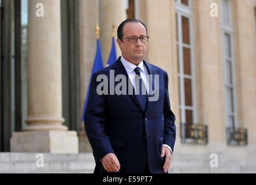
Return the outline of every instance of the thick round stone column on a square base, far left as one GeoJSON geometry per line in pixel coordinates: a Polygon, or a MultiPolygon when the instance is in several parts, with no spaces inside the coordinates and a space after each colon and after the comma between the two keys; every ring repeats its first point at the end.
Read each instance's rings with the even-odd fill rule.
{"type": "Polygon", "coordinates": [[[61,52],[60,0],[28,1],[28,119],[12,151],[78,152],[77,133],[62,125],[61,52]]]}

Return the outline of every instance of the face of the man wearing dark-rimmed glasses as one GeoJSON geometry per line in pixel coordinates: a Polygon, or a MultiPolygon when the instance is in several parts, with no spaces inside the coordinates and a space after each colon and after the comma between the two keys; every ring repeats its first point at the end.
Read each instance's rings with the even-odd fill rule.
{"type": "MultiPolygon", "coordinates": [[[[129,38],[131,36],[140,37],[147,36],[146,28],[141,23],[127,23],[122,29],[123,38],[129,38]]],[[[125,60],[132,62],[132,64],[138,65],[144,58],[147,51],[147,42],[141,42],[140,39],[135,43],[129,42],[128,39],[117,39],[117,43],[121,49],[122,57],[125,60]]]]}

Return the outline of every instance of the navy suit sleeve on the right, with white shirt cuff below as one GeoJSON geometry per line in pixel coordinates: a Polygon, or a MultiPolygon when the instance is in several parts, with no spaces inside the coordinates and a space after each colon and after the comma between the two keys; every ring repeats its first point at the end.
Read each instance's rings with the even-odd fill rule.
{"type": "Polygon", "coordinates": [[[170,97],[168,92],[168,75],[165,72],[165,91],[164,91],[164,144],[171,147],[174,151],[176,126],[175,115],[171,110],[170,97]]]}

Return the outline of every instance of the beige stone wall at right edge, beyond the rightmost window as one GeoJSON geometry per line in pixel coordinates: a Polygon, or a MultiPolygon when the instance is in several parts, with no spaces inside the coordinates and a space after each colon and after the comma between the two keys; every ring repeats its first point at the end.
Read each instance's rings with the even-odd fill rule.
{"type": "Polygon", "coordinates": [[[237,113],[248,129],[248,142],[256,144],[255,1],[233,1],[233,38],[236,68],[237,113]]]}

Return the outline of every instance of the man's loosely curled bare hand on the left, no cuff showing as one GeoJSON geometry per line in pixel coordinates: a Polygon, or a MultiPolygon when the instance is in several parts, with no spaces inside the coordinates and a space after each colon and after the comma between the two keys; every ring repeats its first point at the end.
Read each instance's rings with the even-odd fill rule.
{"type": "Polygon", "coordinates": [[[119,172],[120,170],[120,163],[113,153],[106,154],[102,158],[102,165],[107,172],[119,172]]]}

